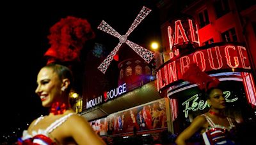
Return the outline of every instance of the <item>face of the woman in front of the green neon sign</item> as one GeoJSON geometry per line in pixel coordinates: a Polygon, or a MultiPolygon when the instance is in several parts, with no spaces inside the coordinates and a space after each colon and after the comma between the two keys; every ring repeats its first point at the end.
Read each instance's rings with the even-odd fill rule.
{"type": "Polygon", "coordinates": [[[223,96],[223,92],[218,88],[214,88],[211,91],[207,102],[211,104],[211,107],[214,107],[216,109],[224,109],[226,107],[226,100],[223,96]]]}

